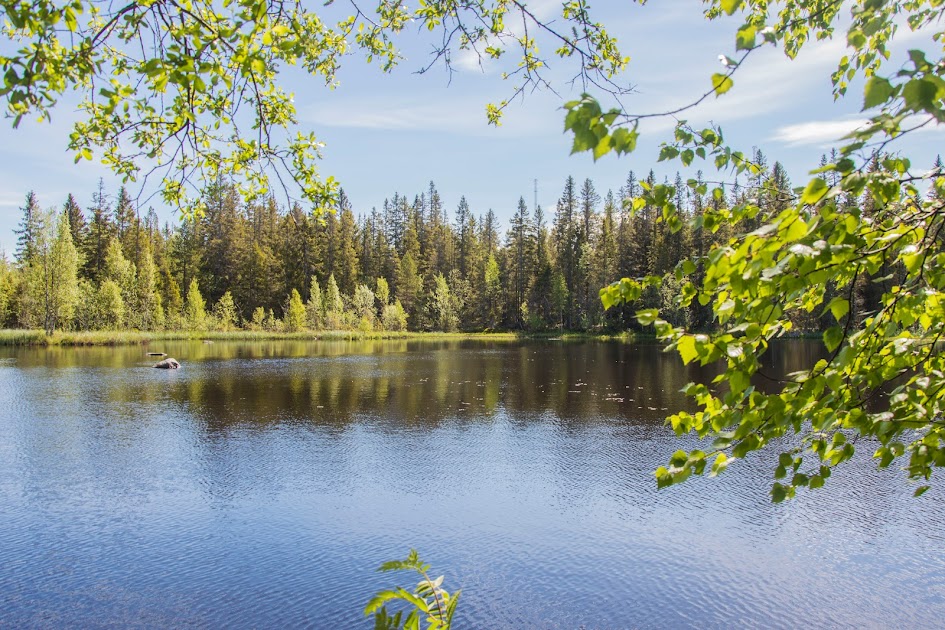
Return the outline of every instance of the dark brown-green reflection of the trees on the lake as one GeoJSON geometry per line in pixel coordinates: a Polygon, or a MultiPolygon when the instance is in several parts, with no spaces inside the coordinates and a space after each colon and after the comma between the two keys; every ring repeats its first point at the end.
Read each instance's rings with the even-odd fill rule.
{"type": "MultiPolygon", "coordinates": [[[[488,419],[501,406],[515,419],[552,414],[568,424],[588,418],[662,423],[685,405],[680,379],[706,380],[715,369],[679,365],[655,345],[563,342],[268,342],[168,343],[178,372],[150,370],[140,348],[9,351],[19,369],[122,371],[101,388],[57,379],[63,396],[95,396],[134,405],[176,403],[209,430],[285,422],[344,425],[364,416],[396,426],[432,426],[447,418],[488,419]]],[[[9,363],[8,363],[9,365],[9,363]]]]}

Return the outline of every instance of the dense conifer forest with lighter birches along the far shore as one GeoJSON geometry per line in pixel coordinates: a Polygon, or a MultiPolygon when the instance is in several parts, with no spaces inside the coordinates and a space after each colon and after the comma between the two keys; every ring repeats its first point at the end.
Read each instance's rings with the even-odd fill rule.
{"type": "MultiPolygon", "coordinates": [[[[821,163],[835,160],[824,155],[821,163]]],[[[316,216],[273,198],[244,203],[219,180],[203,211],[177,224],[143,214],[128,191],[109,195],[100,182],[83,210],[69,195],[41,209],[25,197],[13,261],[0,263],[4,327],[55,330],[589,331],[640,329],[633,316],[657,308],[691,330],[713,328],[711,306],[679,306],[700,260],[726,247],[737,225],[763,229],[766,218],[796,203],[781,164],[760,150],[757,173],[743,185],[708,194],[701,172],[670,182],[675,207],[695,221],[667,222],[634,204],[657,179],[630,172],[614,192],[569,177],[553,210],[524,198],[503,231],[493,210],[477,214],[465,198],[447,208],[433,182],[395,193],[382,208],[352,207],[341,190],[333,212],[316,216]],[[747,201],[758,214],[739,223],[703,224],[747,201]],[[680,264],[682,261],[691,263],[680,264]],[[659,277],[633,303],[606,310],[599,290],[617,278],[659,277]]],[[[936,160],[941,167],[941,160],[936,160]]],[[[879,156],[873,169],[882,168],[879,156]]],[[[840,200],[870,215],[869,192],[840,200]]],[[[851,316],[875,310],[895,280],[895,266],[862,274],[851,289],[851,316]]],[[[792,313],[795,331],[821,331],[828,313],[792,313]]]]}

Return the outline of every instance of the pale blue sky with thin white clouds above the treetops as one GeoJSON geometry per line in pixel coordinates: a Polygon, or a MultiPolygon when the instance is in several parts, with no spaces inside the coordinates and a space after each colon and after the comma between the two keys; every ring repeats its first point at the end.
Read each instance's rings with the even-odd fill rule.
{"type": "MultiPolygon", "coordinates": [[[[547,16],[560,4],[542,0],[529,6],[547,16]]],[[[594,7],[595,17],[631,57],[622,77],[635,86],[624,99],[628,109],[655,112],[688,103],[710,87],[709,77],[721,69],[719,55],[734,56],[738,20],[706,22],[700,7],[698,0],[651,0],[645,6],[602,2],[594,7]]],[[[901,35],[891,67],[902,63],[910,44],[923,46],[921,37],[905,29],[901,35]]],[[[603,194],[619,188],[630,170],[641,176],[650,168],[660,177],[675,173],[676,164],[656,163],[658,145],[674,125],[669,118],[642,127],[640,145],[630,156],[607,156],[596,163],[589,154],[569,156],[571,138],[562,133],[560,108],[563,99],[580,89],[567,84],[570,74],[561,64],[550,75],[560,96],[533,93],[514,101],[502,126],[492,128],[486,124],[486,103],[511,92],[509,82],[500,78],[501,65],[480,67],[471,56],[460,55],[451,81],[438,68],[421,76],[414,71],[426,63],[429,44],[412,32],[403,43],[407,59],[391,74],[355,55],[347,58],[334,90],[307,77],[287,77],[300,127],[314,131],[327,145],[321,173],[341,181],[358,213],[379,207],[394,192],[412,197],[432,180],[450,210],[465,195],[475,213],[491,208],[505,223],[520,196],[531,205],[536,179],[538,201],[550,213],[568,175],[592,178],[603,194]]],[[[710,97],[686,118],[694,124],[721,124],[730,144],[745,151],[761,148],[769,160],[785,164],[799,184],[821,153],[863,119],[859,85],[839,102],[831,94],[830,72],[844,50],[841,33],[810,44],[794,61],[774,49],[758,51],[738,70],[730,92],[710,97]]],[[[112,194],[120,185],[97,164],[73,164],[65,147],[76,114],[70,103],[60,105],[52,123],[24,121],[18,130],[8,123],[0,126],[0,246],[8,253],[27,191],[35,190],[43,206],[61,206],[72,192],[85,207],[99,177],[112,194]]],[[[898,148],[922,169],[931,166],[942,140],[937,128],[898,148]]],[[[136,184],[130,188],[141,192],[136,184]]],[[[172,210],[157,210],[164,219],[174,218],[172,210]]]]}

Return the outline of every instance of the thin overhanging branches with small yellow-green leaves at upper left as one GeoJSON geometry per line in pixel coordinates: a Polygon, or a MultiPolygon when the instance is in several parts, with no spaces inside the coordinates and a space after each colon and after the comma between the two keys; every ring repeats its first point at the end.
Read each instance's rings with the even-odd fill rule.
{"type": "MultiPolygon", "coordinates": [[[[618,92],[613,77],[627,63],[583,0],[563,2],[556,20],[505,0],[328,2],[317,11],[282,0],[2,0],[0,17],[0,97],[14,126],[49,118],[74,92],[76,161],[97,156],[125,181],[156,177],[164,200],[184,209],[199,208],[199,193],[221,174],[248,199],[281,188],[325,207],[337,184],[318,175],[322,143],[297,130],[286,74],[296,67],[331,88],[342,58],[358,51],[388,72],[411,26],[421,33],[411,37],[432,38],[421,72],[450,68],[459,51],[517,56],[505,75],[512,96],[551,87],[539,52],[546,41],[554,56],[574,60],[574,80],[586,88],[618,92]]],[[[488,106],[490,122],[507,104],[488,106]]]]}

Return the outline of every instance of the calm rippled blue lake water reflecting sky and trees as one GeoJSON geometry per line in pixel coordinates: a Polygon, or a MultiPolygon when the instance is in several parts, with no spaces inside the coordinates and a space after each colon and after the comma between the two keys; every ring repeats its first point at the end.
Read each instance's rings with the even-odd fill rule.
{"type": "Polygon", "coordinates": [[[0,627],[370,628],[411,547],[458,628],[945,626],[945,488],[869,448],[783,505],[763,458],[656,490],[712,376],[621,343],[0,349],[0,627]]]}

